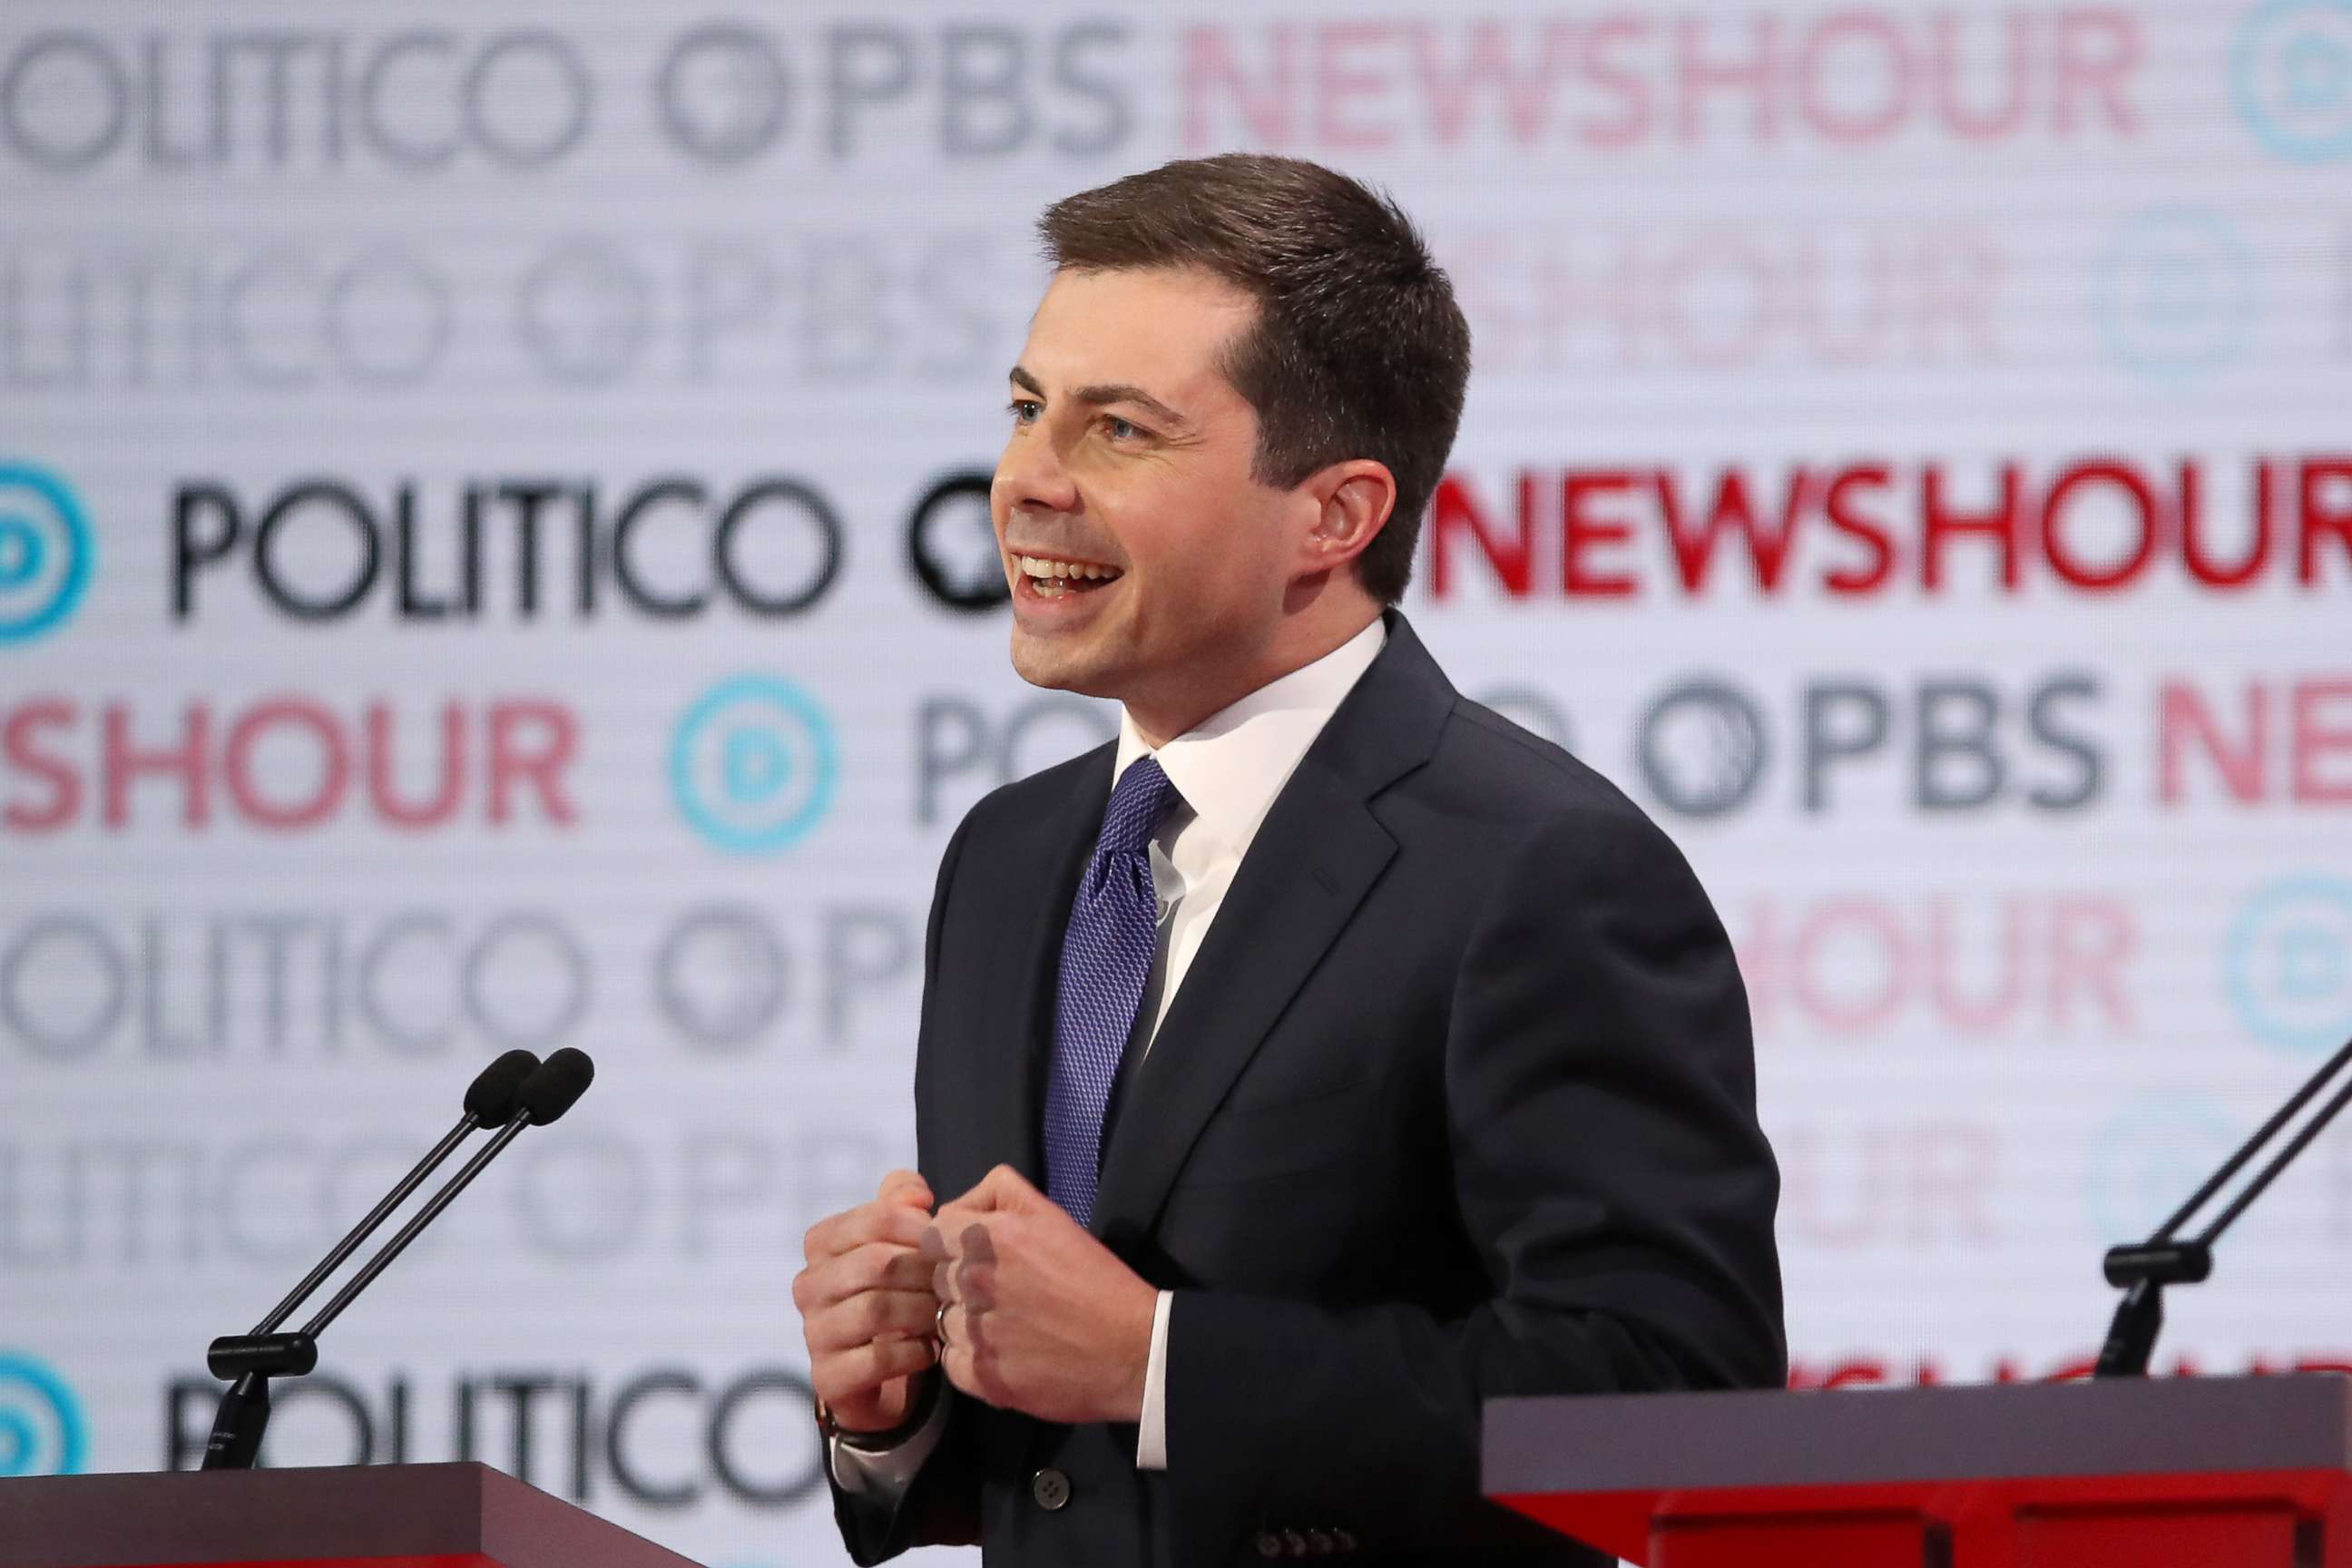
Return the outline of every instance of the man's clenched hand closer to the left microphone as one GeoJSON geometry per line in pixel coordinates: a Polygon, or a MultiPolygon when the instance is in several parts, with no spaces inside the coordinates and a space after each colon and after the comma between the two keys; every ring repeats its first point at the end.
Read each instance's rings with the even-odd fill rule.
{"type": "Polygon", "coordinates": [[[882,1197],[809,1227],[807,1267],[793,1279],[809,1382],[849,1432],[887,1432],[913,1406],[931,1340],[931,1187],[913,1171],[882,1178],[882,1197]]]}

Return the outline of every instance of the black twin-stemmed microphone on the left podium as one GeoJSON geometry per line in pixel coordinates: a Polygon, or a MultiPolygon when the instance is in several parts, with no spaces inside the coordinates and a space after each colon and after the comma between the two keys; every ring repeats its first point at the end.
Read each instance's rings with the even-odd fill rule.
{"type": "Polygon", "coordinates": [[[252,1469],[261,1453],[261,1434],[270,1420],[270,1378],[299,1378],[318,1366],[318,1335],[325,1333],[343,1307],[381,1274],[393,1258],[407,1251],[409,1241],[430,1225],[442,1208],[456,1199],[482,1168],[499,1157],[527,1126],[546,1126],[560,1119],[595,1081],[595,1063],[586,1051],[564,1046],[539,1060],[529,1051],[508,1051],[475,1077],[466,1091],[466,1114],[428,1152],[414,1171],[400,1178],[381,1204],[343,1237],[332,1253],[278,1307],[261,1319],[252,1333],[223,1335],[212,1342],[205,1366],[214,1378],[230,1380],[221,1394],[221,1408],[212,1420],[212,1436],[205,1439],[202,1469],[252,1469]],[[407,1201],[412,1192],[461,1145],[475,1128],[494,1126],[499,1133],[480,1154],[468,1159],[440,1192],[426,1199],[407,1225],[393,1232],[374,1258],[360,1265],[334,1298],[299,1331],[278,1333],[278,1326],[332,1274],[350,1253],[376,1232],[383,1220],[407,1201]]]}

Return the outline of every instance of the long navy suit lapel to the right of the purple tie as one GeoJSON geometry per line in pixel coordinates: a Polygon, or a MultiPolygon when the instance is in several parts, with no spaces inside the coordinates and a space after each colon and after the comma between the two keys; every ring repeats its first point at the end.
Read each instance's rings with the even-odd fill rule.
{"type": "MultiPolygon", "coordinates": [[[[1369,802],[1428,759],[1451,708],[1454,686],[1390,611],[1388,646],[1275,797],[1136,1070],[1094,1204],[1112,1246],[1150,1232],[1225,1091],[1397,853],[1369,802]]],[[[1051,978],[1044,997],[1051,1051],[1051,978]]]]}

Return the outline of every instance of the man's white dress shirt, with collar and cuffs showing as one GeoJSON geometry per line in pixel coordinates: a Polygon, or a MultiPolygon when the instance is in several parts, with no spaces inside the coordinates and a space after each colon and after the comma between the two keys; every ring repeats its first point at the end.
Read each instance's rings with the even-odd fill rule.
{"type": "MultiPolygon", "coordinates": [[[[1145,1004],[1155,1006],[1150,1030],[1136,1041],[1143,1051],[1150,1051],[1160,1034],[1169,1001],[1176,999],[1176,987],[1183,985],[1192,954],[1200,952],[1200,943],[1209,933],[1209,922],[1225,903],[1225,889],[1232,886],[1242,856],[1258,837],[1258,823],[1265,820],[1298,759],[1315,745],[1315,736],[1322,733],[1341,701],[1355,691],[1355,682],[1364,677],[1385,642],[1388,625],[1374,621],[1315,663],[1258,686],[1230,708],[1221,708],[1157,752],[1143,743],[1136,722],[1120,715],[1112,785],[1138,757],[1157,755],[1160,769],[1183,797],[1183,804],[1167,813],[1150,842],[1152,889],[1160,893],[1160,940],[1143,992],[1145,1004]]],[[[1129,1110],[1127,1114],[1148,1112],[1129,1110]]],[[[1143,1373],[1136,1469],[1167,1469],[1169,1462],[1169,1300],[1171,1293],[1162,1291],[1152,1309],[1152,1349],[1143,1373]]],[[[948,1401],[941,1399],[922,1432],[884,1453],[861,1453],[833,1443],[835,1481],[851,1493],[896,1497],[938,1446],[938,1434],[948,1425],[946,1410],[948,1401]]]]}

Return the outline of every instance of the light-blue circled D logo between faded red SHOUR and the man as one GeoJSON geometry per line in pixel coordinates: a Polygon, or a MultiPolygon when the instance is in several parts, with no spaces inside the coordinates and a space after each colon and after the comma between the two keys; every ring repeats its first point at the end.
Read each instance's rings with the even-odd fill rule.
{"type": "Polygon", "coordinates": [[[788,679],[739,675],[710,689],[670,741],[670,788],[699,835],[731,853],[776,853],[833,806],[833,722],[788,679]]]}

